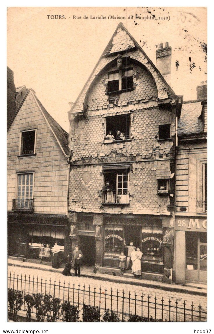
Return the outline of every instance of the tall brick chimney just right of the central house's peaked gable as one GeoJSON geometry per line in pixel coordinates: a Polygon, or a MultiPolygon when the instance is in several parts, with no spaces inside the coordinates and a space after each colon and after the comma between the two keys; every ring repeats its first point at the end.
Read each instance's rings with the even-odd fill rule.
{"type": "Polygon", "coordinates": [[[163,43],[161,43],[159,45],[159,49],[156,50],[156,64],[158,70],[169,85],[171,85],[171,58],[171,46],[169,46],[169,43],[166,42],[163,47],[163,43]]]}

